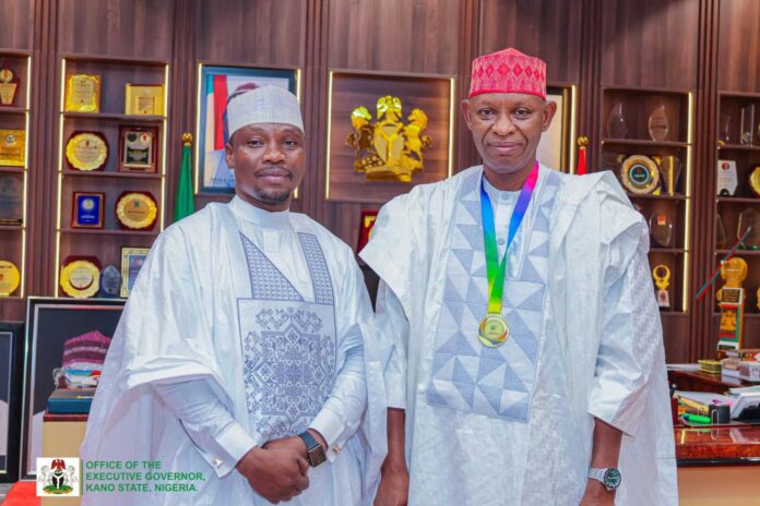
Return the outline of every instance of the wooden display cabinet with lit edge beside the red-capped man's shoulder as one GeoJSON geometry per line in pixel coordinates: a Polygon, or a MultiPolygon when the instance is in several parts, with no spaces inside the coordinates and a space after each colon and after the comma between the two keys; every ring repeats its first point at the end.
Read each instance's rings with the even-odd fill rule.
{"type": "MultiPolygon", "coordinates": [[[[689,312],[693,94],[688,89],[603,87],[599,115],[599,167],[602,170],[613,170],[621,182],[620,167],[629,156],[643,155],[655,162],[662,157],[673,156],[680,162],[680,177],[673,195],[667,192],[662,172],[658,186],[650,193],[626,190],[644,219],[649,221],[655,214],[664,214],[673,222],[672,243],[657,244],[651,237],[649,254],[650,270],[657,265],[665,265],[670,270],[670,309],[661,310],[667,335],[670,327],[676,328],[668,324],[668,318],[684,318],[689,312]],[[664,106],[662,110],[667,132],[660,132],[656,135],[658,138],[653,140],[649,128],[650,116],[661,106],[664,106]],[[621,116],[618,113],[620,110],[621,116]],[[619,124],[620,118],[622,128],[619,124]]],[[[652,287],[656,290],[654,282],[652,287]]]]}

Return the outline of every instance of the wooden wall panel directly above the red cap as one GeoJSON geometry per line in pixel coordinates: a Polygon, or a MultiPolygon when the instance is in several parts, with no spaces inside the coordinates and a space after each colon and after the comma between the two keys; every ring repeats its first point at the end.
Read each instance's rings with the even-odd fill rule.
{"type": "Polygon", "coordinates": [[[479,53],[508,47],[546,61],[548,81],[578,83],[581,76],[582,2],[484,0],[479,53]]]}

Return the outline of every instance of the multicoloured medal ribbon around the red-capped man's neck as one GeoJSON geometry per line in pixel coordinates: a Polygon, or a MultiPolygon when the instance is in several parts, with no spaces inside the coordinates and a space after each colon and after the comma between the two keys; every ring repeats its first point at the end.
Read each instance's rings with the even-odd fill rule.
{"type": "Polygon", "coordinates": [[[483,217],[483,239],[486,246],[486,272],[488,274],[488,313],[501,314],[501,298],[504,287],[504,276],[507,274],[507,257],[509,255],[509,246],[514,240],[520,224],[522,224],[527,206],[531,204],[533,191],[536,188],[538,180],[538,161],[533,166],[533,170],[527,176],[518,203],[514,205],[512,216],[509,219],[509,234],[507,236],[507,248],[504,256],[499,262],[499,249],[496,245],[496,224],[494,221],[494,207],[491,206],[488,192],[485,186],[485,174],[480,180],[480,214],[483,217]]]}

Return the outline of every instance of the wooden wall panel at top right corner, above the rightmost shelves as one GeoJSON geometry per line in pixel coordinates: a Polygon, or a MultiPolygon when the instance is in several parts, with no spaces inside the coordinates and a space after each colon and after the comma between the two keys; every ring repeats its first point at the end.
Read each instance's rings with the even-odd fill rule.
{"type": "Polygon", "coordinates": [[[719,88],[760,93],[760,2],[721,1],[717,44],[719,88]]]}

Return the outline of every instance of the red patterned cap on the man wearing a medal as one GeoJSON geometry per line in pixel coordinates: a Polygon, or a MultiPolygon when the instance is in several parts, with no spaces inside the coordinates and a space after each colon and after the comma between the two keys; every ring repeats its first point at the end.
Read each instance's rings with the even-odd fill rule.
{"type": "Polygon", "coordinates": [[[470,98],[483,93],[526,93],[546,98],[546,63],[514,48],[477,57],[470,98]]]}

